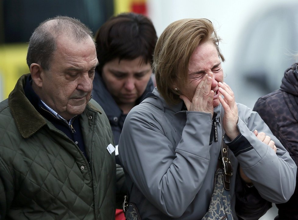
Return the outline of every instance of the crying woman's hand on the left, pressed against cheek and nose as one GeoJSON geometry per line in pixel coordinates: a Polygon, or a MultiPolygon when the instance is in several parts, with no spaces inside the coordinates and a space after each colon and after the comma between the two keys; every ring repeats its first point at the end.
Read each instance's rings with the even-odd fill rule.
{"type": "Polygon", "coordinates": [[[193,99],[190,100],[184,95],[180,95],[189,111],[199,111],[210,113],[213,116],[213,96],[214,91],[211,90],[213,73],[205,74],[204,78],[197,86],[193,99]]]}

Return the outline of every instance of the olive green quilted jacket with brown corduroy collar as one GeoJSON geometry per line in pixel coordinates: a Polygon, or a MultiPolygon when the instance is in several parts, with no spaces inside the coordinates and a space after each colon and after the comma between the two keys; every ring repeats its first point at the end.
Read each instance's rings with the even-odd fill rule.
{"type": "MultiPolygon", "coordinates": [[[[114,142],[105,113],[90,101],[80,117],[89,164],[26,98],[28,75],[0,103],[0,219],[115,219],[115,152],[107,150],[114,142]]],[[[122,183],[123,176],[119,171],[122,183]]]]}

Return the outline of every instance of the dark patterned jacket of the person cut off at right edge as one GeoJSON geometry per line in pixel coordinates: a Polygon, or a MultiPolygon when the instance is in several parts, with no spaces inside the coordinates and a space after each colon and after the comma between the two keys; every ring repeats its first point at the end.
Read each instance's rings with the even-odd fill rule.
{"type": "MultiPolygon", "coordinates": [[[[272,133],[289,151],[298,164],[298,63],[289,67],[282,79],[280,89],[257,100],[254,111],[257,111],[272,133]]],[[[297,182],[297,179],[296,179],[297,182]]],[[[298,219],[298,188],[290,200],[276,204],[278,216],[275,220],[298,219]]]]}

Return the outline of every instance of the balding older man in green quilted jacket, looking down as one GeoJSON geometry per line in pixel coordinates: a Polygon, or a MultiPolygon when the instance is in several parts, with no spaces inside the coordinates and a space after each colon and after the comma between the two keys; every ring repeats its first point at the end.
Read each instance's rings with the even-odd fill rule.
{"type": "Polygon", "coordinates": [[[30,38],[27,64],[0,103],[0,219],[115,219],[114,141],[91,99],[92,32],[48,19],[30,38]]]}

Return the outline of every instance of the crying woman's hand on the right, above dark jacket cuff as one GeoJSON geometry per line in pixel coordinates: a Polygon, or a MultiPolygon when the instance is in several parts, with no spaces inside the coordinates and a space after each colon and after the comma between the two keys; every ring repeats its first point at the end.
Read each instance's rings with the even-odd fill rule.
{"type": "Polygon", "coordinates": [[[218,82],[219,92],[224,96],[219,96],[219,101],[225,110],[225,115],[222,119],[222,125],[226,135],[234,140],[239,135],[237,128],[238,123],[238,108],[235,102],[235,96],[232,89],[225,82],[218,82]]]}

